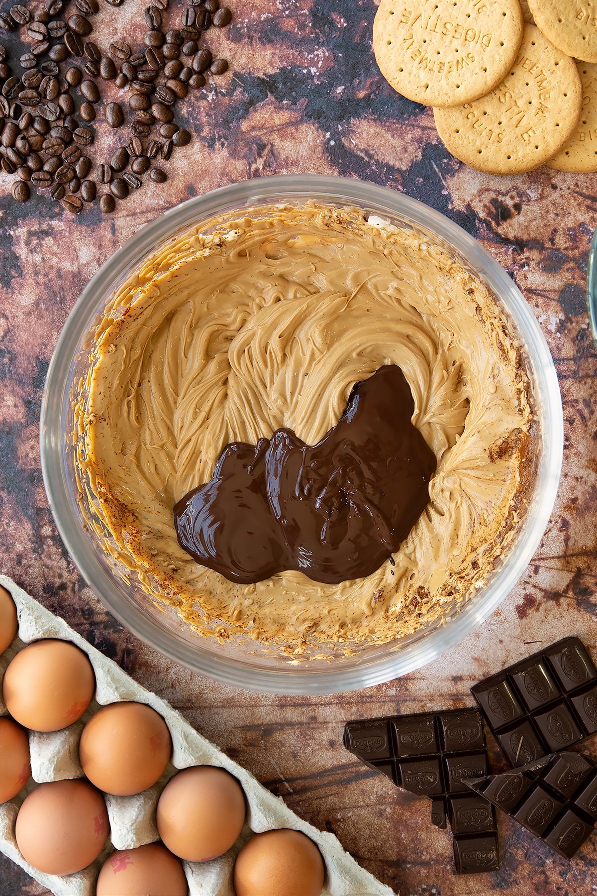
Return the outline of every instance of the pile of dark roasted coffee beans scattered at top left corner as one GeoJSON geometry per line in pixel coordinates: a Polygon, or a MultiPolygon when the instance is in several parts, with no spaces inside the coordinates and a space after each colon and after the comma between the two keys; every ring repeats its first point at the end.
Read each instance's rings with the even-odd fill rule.
{"type": "MultiPolygon", "coordinates": [[[[122,0],[106,2],[118,6],[122,0]]],[[[0,44],[0,166],[15,176],[17,202],[26,202],[35,187],[74,214],[97,197],[101,211],[110,212],[142,186],[143,175],[164,183],[161,163],[191,141],[189,131],[175,124],[177,101],[204,87],[209,74],[228,68],[225,59],[200,47],[201,39],[232,18],[219,0],[187,0],[180,27],[166,30],[168,3],[153,0],[143,13],[147,30],[139,49],[120,39],[100,48],[91,38],[98,0],[74,0],[72,14],[64,0],[46,0],[34,11],[17,4],[0,13],[0,30],[21,28],[29,43],[17,65],[0,44]],[[103,82],[113,82],[124,100],[102,104],[103,82]],[[98,116],[129,134],[92,170],[89,148],[98,116]]]]}

